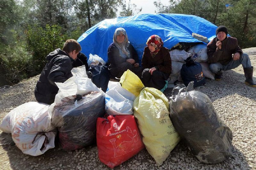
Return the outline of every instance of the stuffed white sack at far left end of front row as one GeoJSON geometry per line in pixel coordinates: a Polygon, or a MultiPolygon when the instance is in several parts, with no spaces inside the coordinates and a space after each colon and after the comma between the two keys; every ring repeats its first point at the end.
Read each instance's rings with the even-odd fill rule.
{"type": "Polygon", "coordinates": [[[25,154],[38,156],[54,148],[57,130],[51,124],[48,104],[28,102],[9,112],[0,130],[12,133],[12,140],[25,154]]]}

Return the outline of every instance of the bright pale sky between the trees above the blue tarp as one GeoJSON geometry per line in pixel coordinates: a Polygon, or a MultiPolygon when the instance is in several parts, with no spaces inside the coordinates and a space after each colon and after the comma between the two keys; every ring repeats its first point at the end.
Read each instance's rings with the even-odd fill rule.
{"type": "MultiPolygon", "coordinates": [[[[139,14],[144,14],[144,13],[155,13],[156,7],[153,4],[154,1],[157,0],[131,0],[131,4],[137,5],[137,8],[139,9],[142,7],[142,11],[139,14]]],[[[126,0],[126,3],[129,2],[129,0],[126,0]]],[[[162,4],[169,4],[169,0],[161,0],[162,4]]]]}

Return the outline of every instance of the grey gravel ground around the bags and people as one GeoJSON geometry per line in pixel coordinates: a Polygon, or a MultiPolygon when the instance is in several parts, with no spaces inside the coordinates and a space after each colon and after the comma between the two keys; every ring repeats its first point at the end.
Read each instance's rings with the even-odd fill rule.
{"type": "MultiPolygon", "coordinates": [[[[252,66],[256,66],[256,48],[244,49],[252,66]]],[[[254,70],[254,82],[256,82],[254,70]]],[[[0,121],[20,104],[35,101],[33,90],[39,76],[22,81],[13,87],[0,90],[0,121]]],[[[222,163],[200,163],[181,141],[163,165],[157,166],[147,150],[140,151],[114,169],[256,169],[256,88],[244,84],[242,66],[224,72],[221,81],[207,79],[206,85],[196,90],[206,94],[221,119],[233,132],[232,156],[222,163]]],[[[169,98],[171,88],[164,94],[169,98]]],[[[0,169],[109,169],[98,158],[96,144],[66,152],[58,145],[43,155],[23,154],[12,141],[10,134],[0,131],[0,169]]]]}

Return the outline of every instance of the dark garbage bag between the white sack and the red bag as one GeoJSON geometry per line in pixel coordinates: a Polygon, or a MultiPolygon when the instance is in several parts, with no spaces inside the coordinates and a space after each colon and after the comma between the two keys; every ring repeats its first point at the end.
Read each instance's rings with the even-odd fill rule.
{"type": "Polygon", "coordinates": [[[58,127],[63,150],[73,151],[96,141],[96,122],[104,116],[105,93],[64,97],[52,111],[52,124],[58,127]]]}

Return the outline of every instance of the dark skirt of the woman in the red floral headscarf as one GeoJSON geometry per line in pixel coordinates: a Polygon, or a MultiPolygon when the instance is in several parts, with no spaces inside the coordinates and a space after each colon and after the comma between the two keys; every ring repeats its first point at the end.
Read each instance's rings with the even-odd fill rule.
{"type": "Polygon", "coordinates": [[[149,73],[149,68],[145,68],[142,72],[141,81],[145,87],[153,87],[158,90],[164,88],[166,81],[169,77],[169,74],[155,70],[151,75],[149,73]]]}

